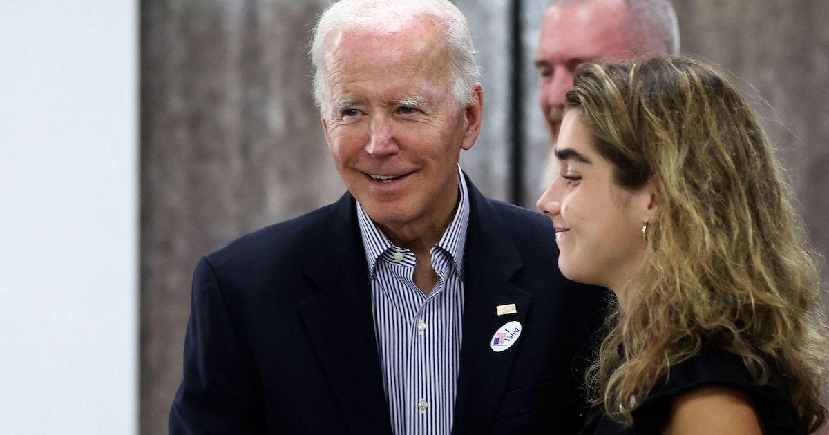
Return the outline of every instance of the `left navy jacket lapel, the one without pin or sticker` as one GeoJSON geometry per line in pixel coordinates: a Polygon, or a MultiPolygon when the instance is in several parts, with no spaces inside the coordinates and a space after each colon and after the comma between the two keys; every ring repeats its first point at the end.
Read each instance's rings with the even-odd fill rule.
{"type": "Polygon", "coordinates": [[[337,201],[334,215],[331,231],[320,234],[312,247],[305,273],[318,291],[299,305],[299,316],[349,432],[389,434],[371,283],[350,195],[337,201]]]}

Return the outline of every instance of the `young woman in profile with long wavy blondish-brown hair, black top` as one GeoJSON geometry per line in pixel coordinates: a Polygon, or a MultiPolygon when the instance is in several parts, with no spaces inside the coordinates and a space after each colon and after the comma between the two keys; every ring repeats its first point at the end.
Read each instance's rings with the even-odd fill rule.
{"type": "Polygon", "coordinates": [[[583,65],[555,153],[560,269],[618,299],[584,433],[816,431],[819,273],[734,85],[687,58],[583,65]]]}

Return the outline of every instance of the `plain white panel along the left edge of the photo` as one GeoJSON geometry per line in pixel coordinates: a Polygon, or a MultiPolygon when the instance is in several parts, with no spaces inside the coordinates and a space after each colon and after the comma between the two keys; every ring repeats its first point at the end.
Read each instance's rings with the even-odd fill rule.
{"type": "Polygon", "coordinates": [[[0,2],[2,433],[137,433],[137,29],[0,2]]]}

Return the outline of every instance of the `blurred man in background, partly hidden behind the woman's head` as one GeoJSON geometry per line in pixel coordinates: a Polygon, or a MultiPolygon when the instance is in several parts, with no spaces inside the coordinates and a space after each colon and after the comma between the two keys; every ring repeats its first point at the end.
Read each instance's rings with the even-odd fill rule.
{"type": "MultiPolygon", "coordinates": [[[[541,22],[536,51],[549,150],[558,137],[565,94],[573,87],[573,72],[580,63],[678,53],[679,27],[668,0],[553,0],[541,22]]],[[[555,156],[549,150],[544,188],[555,176],[555,156]]]]}

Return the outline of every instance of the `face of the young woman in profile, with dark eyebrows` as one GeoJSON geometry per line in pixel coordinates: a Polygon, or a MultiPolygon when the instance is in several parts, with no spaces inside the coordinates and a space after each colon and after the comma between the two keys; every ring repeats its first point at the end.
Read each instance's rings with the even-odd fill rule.
{"type": "Polygon", "coordinates": [[[559,172],[537,202],[550,216],[565,277],[618,292],[642,268],[642,225],[655,216],[652,183],[629,190],[613,181],[578,109],[568,109],[555,143],[559,172]]]}

